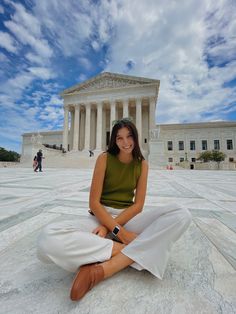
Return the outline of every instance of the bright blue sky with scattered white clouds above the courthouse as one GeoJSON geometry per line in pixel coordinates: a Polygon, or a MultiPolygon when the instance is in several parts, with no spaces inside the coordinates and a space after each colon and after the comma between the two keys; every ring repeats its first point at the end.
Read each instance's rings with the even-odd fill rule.
{"type": "Polygon", "coordinates": [[[236,120],[236,1],[3,0],[0,64],[0,146],[18,152],[101,71],[160,79],[157,123],[236,120]]]}

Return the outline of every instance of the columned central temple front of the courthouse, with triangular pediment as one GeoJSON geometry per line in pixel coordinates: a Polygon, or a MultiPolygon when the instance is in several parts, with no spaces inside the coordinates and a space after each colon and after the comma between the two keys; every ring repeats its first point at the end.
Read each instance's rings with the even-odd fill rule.
{"type": "Polygon", "coordinates": [[[159,80],[104,72],[63,91],[64,150],[105,150],[113,121],[130,117],[148,153],[159,85],[159,80]]]}

